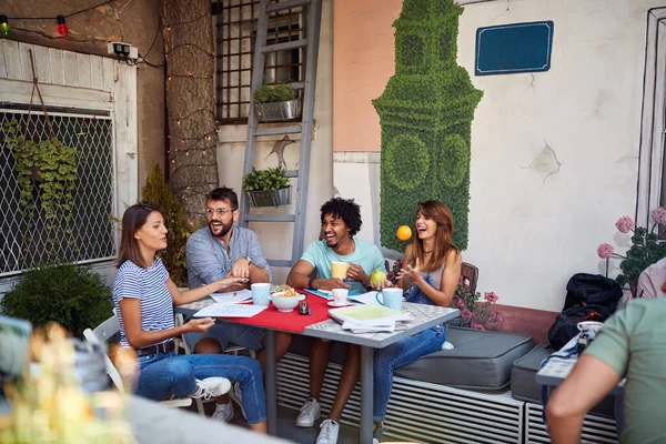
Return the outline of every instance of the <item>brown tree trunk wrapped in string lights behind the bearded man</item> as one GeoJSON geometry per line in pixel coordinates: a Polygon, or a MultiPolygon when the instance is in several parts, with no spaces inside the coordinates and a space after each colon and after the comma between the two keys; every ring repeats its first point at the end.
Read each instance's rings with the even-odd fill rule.
{"type": "Polygon", "coordinates": [[[215,56],[210,0],[163,4],[169,176],[190,221],[203,216],[219,185],[215,155],[215,56]]]}

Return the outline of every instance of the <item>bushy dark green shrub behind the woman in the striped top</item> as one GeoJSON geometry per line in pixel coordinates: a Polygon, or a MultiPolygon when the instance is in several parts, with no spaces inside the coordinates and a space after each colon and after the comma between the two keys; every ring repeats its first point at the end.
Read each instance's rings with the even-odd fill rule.
{"type": "Polygon", "coordinates": [[[22,317],[34,326],[50,321],[74,336],[113,314],[111,290],[89,266],[61,263],[42,265],[21,275],[0,300],[2,314],[22,317]]]}

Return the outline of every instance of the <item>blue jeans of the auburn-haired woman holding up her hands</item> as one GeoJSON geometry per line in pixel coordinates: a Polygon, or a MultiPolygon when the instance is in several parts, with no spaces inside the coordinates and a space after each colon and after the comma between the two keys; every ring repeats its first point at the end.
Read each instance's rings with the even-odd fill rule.
{"type": "Polygon", "coordinates": [[[386,406],[393,389],[393,371],[413,363],[421,356],[442,350],[444,341],[446,341],[446,331],[442,325],[437,325],[375,351],[372,406],[375,422],[384,421],[386,417],[386,406]]]}

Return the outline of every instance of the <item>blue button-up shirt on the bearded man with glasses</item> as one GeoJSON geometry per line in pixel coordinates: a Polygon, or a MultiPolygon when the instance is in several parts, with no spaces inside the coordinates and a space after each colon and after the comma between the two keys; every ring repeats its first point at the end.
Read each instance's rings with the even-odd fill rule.
{"type": "Polygon", "coordinates": [[[224,241],[211,234],[211,230],[204,226],[196,230],[188,239],[188,283],[190,289],[210,284],[225,278],[231,266],[240,258],[250,258],[252,263],[269,272],[271,269],[263,254],[256,234],[252,230],[233,226],[229,239],[229,253],[224,241]]]}

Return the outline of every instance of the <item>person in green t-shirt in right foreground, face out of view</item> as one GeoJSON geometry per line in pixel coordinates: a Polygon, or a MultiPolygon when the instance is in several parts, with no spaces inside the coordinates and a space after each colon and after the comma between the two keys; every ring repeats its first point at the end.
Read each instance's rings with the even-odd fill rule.
{"type": "Polygon", "coordinates": [[[620,442],[666,442],[665,316],[666,299],[643,299],[605,322],[548,402],[546,417],[554,444],[581,442],[585,414],[623,377],[620,442]]]}

